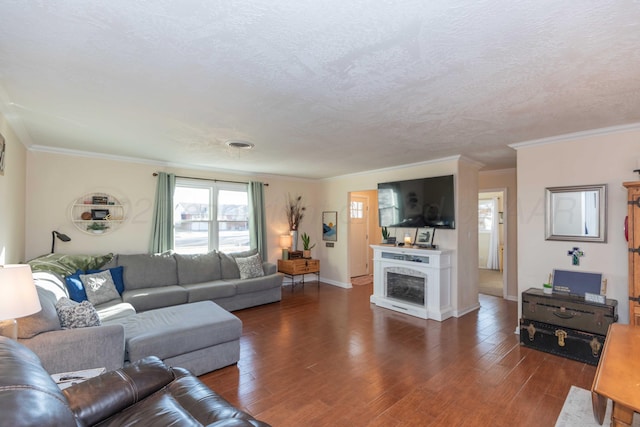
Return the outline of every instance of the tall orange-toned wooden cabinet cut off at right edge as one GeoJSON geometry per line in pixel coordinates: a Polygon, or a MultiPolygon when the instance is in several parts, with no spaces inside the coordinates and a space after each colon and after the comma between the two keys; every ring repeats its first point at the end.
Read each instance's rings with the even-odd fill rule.
{"type": "Polygon", "coordinates": [[[629,241],[629,323],[640,326],[640,181],[625,182],[629,241]]]}

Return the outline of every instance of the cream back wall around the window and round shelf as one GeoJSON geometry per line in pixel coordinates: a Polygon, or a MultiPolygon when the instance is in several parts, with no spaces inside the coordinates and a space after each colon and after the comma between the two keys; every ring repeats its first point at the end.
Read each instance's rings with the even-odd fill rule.
{"type": "Polygon", "coordinates": [[[265,204],[268,258],[272,262],[281,255],[279,236],[288,232],[284,209],[289,192],[302,195],[308,207],[308,214],[301,223],[301,232],[306,231],[315,242],[322,238],[321,225],[317,224],[320,217],[315,214],[318,184],[314,181],[160,168],[151,164],[36,151],[28,153],[26,259],[51,250],[52,230],[71,237],[70,242],[56,242],[56,252],[60,253],[147,252],[156,189],[156,178],[152,174],[156,171],[190,177],[234,181],[251,179],[268,183],[269,186],[265,188],[265,204]],[[104,235],[89,235],[77,230],[71,223],[69,209],[72,202],[92,192],[113,194],[126,205],[127,219],[117,230],[104,235]]]}

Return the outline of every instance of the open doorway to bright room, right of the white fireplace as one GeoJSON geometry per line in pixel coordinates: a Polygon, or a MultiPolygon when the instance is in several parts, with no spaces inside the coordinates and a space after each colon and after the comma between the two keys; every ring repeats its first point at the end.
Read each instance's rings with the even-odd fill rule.
{"type": "Polygon", "coordinates": [[[506,190],[478,194],[478,292],[505,298],[506,190]]]}

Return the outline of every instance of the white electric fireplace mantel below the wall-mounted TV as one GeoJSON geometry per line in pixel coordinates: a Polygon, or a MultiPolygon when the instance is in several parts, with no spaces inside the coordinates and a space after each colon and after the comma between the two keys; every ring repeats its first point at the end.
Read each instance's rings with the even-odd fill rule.
{"type": "MultiPolygon", "coordinates": [[[[379,306],[422,319],[442,321],[453,315],[451,306],[451,251],[371,245],[373,249],[373,295],[370,301],[379,306]],[[424,279],[425,289],[415,289],[416,300],[398,297],[388,289],[387,277],[409,276],[407,286],[415,287],[424,279]],[[424,300],[424,303],[421,301],[424,300]]],[[[392,280],[392,279],[389,279],[392,280]]],[[[397,279],[396,279],[397,280],[397,279]]],[[[397,283],[397,282],[394,282],[397,283]]],[[[414,295],[415,296],[415,295],[414,295]]]]}

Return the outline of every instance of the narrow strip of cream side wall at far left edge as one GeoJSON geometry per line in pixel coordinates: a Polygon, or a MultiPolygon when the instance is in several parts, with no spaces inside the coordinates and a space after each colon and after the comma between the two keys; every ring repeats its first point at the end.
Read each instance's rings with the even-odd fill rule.
{"type": "Polygon", "coordinates": [[[0,175],[0,265],[24,261],[26,150],[0,114],[5,168],[0,175]]]}

